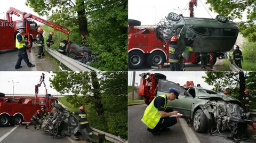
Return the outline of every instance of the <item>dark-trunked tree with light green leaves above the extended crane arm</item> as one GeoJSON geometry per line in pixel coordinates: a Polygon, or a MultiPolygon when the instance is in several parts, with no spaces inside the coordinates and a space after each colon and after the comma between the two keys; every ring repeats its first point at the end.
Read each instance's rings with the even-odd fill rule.
{"type": "Polygon", "coordinates": [[[26,5],[39,15],[50,16],[50,20],[62,26],[78,25],[82,39],[89,35],[84,0],[27,0],[26,5]]]}

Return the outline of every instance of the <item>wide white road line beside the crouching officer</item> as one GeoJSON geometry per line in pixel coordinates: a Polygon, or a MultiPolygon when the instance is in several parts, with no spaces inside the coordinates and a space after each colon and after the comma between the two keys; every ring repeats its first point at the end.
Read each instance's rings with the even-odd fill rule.
{"type": "Polygon", "coordinates": [[[186,139],[188,142],[197,142],[200,143],[199,139],[196,137],[196,134],[192,131],[191,128],[188,127],[187,122],[185,119],[179,118],[180,125],[185,133],[186,139]]]}

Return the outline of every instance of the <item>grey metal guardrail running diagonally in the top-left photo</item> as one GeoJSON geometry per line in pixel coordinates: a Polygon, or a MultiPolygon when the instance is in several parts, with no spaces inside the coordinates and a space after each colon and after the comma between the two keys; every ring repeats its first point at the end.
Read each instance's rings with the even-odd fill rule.
{"type": "Polygon", "coordinates": [[[48,48],[47,46],[45,46],[45,50],[72,71],[100,71],[92,66],[86,65],[51,48],[48,48]]]}

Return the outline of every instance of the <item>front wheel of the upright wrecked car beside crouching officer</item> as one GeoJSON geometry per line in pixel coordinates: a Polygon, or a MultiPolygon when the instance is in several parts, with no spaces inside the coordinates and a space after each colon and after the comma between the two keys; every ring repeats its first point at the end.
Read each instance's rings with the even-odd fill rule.
{"type": "Polygon", "coordinates": [[[206,132],[207,127],[207,117],[204,112],[199,109],[193,116],[193,128],[196,132],[206,132]]]}

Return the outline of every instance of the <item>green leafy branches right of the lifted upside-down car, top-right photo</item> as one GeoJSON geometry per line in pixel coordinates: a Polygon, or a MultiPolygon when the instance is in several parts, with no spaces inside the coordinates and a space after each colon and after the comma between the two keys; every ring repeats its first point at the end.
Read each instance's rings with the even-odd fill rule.
{"type": "Polygon", "coordinates": [[[249,41],[256,41],[256,1],[254,0],[206,0],[210,10],[228,16],[229,19],[242,19],[247,12],[247,21],[239,22],[239,30],[249,41]]]}

